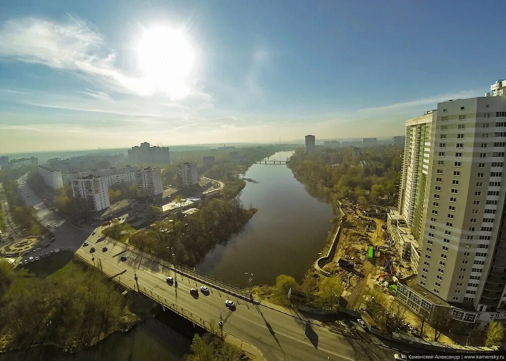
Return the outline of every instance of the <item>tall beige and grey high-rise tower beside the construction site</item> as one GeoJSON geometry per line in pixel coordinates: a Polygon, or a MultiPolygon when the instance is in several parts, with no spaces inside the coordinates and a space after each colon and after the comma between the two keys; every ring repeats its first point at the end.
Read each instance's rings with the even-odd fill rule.
{"type": "MultiPolygon", "coordinates": [[[[505,323],[506,96],[441,102],[432,115],[431,140],[421,158],[410,153],[410,147],[417,147],[411,145],[406,124],[399,206],[408,218],[409,210],[419,207],[416,197],[423,188],[415,187],[415,207],[411,207],[413,197],[407,194],[413,184],[423,183],[423,179],[416,179],[420,176],[416,162],[421,161],[426,186],[416,284],[400,284],[397,295],[417,312],[424,309],[430,313],[445,305],[455,319],[505,323]],[[411,178],[411,186],[407,178],[411,178]]],[[[416,210],[411,212],[416,216],[416,210]]]]}

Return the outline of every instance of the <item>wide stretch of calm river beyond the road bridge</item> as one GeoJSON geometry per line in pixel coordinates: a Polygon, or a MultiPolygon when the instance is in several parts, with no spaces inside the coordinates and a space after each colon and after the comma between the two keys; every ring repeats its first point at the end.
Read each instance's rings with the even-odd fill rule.
{"type": "MultiPolygon", "coordinates": [[[[267,160],[286,160],[293,152],[278,152],[267,160]]],[[[210,251],[197,269],[234,284],[274,284],[287,274],[300,281],[324,247],[332,207],[306,192],[286,165],[254,164],[245,173],[240,194],[245,207],[258,211],[244,230],[210,251]]]]}

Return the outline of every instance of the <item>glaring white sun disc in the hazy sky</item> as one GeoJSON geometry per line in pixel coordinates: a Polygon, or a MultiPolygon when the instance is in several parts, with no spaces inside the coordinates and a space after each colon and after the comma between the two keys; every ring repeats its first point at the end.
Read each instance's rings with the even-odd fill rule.
{"type": "Polygon", "coordinates": [[[195,52],[183,30],[146,29],[137,52],[139,66],[153,87],[171,99],[181,99],[189,94],[195,52]]]}

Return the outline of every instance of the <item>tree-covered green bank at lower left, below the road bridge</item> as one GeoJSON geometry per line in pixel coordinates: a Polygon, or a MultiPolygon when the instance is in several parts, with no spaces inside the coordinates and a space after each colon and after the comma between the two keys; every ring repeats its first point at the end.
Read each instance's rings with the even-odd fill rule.
{"type": "Polygon", "coordinates": [[[0,350],[52,344],[76,351],[130,328],[132,299],[97,269],[60,252],[14,271],[0,263],[0,350]]]}

